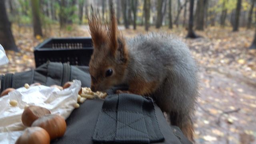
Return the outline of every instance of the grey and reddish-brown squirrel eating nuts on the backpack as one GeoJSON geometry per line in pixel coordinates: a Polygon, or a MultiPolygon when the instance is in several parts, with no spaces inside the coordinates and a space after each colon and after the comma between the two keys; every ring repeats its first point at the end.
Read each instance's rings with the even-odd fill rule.
{"type": "Polygon", "coordinates": [[[193,120],[198,96],[197,68],[186,44],[168,34],[150,33],[125,39],[112,8],[104,28],[96,14],[89,17],[94,47],[89,63],[92,91],[126,84],[128,92],[150,95],[170,115],[172,125],[194,142],[193,120]]]}

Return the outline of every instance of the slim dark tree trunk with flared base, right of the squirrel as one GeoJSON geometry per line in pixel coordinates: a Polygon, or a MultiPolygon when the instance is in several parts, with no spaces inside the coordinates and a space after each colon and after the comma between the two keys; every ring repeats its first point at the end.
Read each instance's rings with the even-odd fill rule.
{"type": "Polygon", "coordinates": [[[194,0],[190,0],[189,7],[189,20],[188,20],[188,35],[187,38],[197,38],[194,30],[193,30],[193,10],[194,9],[194,0]]]}

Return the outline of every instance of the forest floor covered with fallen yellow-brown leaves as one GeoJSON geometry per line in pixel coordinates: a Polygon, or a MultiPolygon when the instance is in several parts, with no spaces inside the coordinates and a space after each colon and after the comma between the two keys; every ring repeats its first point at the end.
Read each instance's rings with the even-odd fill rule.
{"type": "MultiPolygon", "coordinates": [[[[146,33],[143,27],[124,30],[132,37],[146,33]]],[[[256,144],[256,51],[248,50],[254,30],[211,27],[196,32],[201,38],[185,39],[187,31],[161,28],[182,38],[190,47],[199,67],[200,97],[195,116],[195,139],[198,144],[256,144]]],[[[88,26],[72,26],[60,31],[52,26],[47,37],[90,36],[88,26]]],[[[10,63],[0,66],[0,74],[35,68],[33,48],[45,38],[33,37],[32,28],[13,26],[20,52],[7,51],[10,63]]]]}

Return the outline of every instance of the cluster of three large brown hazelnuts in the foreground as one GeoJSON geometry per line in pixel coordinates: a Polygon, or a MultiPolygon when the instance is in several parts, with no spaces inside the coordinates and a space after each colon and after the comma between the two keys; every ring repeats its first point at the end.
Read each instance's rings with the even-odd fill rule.
{"type": "Polygon", "coordinates": [[[66,132],[65,119],[40,106],[24,108],[21,120],[28,128],[15,144],[50,144],[50,140],[59,138],[66,132]]]}

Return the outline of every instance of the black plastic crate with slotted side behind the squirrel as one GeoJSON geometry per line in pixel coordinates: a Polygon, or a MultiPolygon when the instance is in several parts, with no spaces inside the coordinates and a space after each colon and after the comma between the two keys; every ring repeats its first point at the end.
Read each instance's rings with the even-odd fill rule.
{"type": "Polygon", "coordinates": [[[93,52],[91,38],[49,38],[34,49],[36,67],[51,62],[88,66],[93,52]]]}

